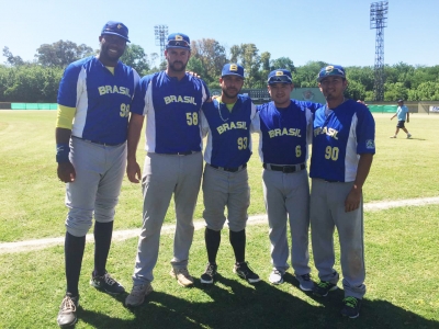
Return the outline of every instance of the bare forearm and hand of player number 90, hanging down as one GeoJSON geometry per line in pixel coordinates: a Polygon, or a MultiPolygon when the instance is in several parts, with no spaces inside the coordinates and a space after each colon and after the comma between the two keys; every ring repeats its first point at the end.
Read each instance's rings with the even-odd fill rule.
{"type": "Polygon", "coordinates": [[[358,162],[357,177],[353,181],[352,189],[345,201],[345,212],[352,212],[360,206],[363,184],[369,175],[370,168],[372,166],[373,154],[360,155],[358,162]]]}

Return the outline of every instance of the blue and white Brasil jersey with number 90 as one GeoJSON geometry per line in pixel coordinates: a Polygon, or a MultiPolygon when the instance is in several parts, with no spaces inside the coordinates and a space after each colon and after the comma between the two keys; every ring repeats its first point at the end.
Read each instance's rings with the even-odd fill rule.
{"type": "Polygon", "coordinates": [[[314,115],[309,177],[353,182],[359,155],[375,154],[375,122],[369,109],[353,100],[322,107],[314,115]]]}

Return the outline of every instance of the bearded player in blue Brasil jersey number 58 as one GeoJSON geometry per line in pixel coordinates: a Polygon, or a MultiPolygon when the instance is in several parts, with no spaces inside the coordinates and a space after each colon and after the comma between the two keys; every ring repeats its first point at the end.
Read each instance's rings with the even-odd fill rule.
{"type": "Polygon", "coordinates": [[[128,306],[140,305],[153,291],[153,270],[159,249],[160,229],[172,197],[176,203],[176,236],[170,274],[182,286],[193,284],[188,271],[189,249],[193,238],[193,213],[203,170],[200,109],[209,90],[204,82],[185,72],[191,56],[189,37],[182,33],[168,36],[168,67],[140,81],[128,127],[127,175],[138,183],[140,168],[136,149],[146,121],[146,151],[142,186],[143,226],[138,239],[128,306]]]}

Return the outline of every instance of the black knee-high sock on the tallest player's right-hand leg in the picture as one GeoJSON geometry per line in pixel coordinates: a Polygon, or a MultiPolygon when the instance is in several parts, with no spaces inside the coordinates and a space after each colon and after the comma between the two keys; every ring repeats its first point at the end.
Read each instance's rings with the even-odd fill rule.
{"type": "Polygon", "coordinates": [[[94,271],[93,275],[105,274],[106,259],[110,252],[113,222],[94,222],[94,271]]]}

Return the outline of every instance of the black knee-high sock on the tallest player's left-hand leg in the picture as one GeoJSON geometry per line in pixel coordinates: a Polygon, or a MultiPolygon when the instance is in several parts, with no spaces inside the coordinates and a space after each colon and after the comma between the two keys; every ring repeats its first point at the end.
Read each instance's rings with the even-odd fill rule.
{"type": "Polygon", "coordinates": [[[78,296],[79,275],[81,274],[81,264],[83,249],[86,248],[86,236],[75,237],[66,232],[64,245],[64,256],[66,260],[66,280],[67,293],[71,296],[78,296]]]}

